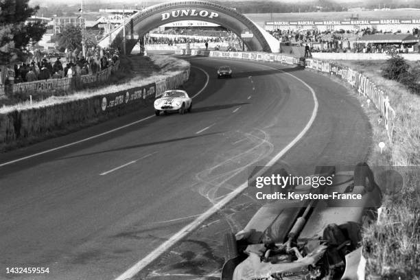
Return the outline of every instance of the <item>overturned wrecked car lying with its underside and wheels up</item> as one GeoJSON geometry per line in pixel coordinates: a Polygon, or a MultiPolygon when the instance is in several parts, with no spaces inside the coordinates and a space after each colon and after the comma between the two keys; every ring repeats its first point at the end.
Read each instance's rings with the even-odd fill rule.
{"type": "MultiPolygon", "coordinates": [[[[261,207],[242,231],[226,233],[222,280],[360,279],[360,233],[377,219],[382,192],[366,163],[344,172],[320,167],[315,174],[334,177],[332,185],[316,189],[326,199],[275,200],[261,207]],[[334,193],[360,199],[329,198],[334,193]]],[[[314,193],[305,185],[286,189],[314,193]]]]}

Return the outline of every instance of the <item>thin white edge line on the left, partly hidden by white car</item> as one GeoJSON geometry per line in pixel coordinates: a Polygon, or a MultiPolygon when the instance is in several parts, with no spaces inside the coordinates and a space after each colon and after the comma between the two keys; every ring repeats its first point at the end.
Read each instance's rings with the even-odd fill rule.
{"type": "MultiPolygon", "coordinates": [[[[205,85],[204,85],[204,86],[200,89],[200,91],[198,91],[198,93],[196,93],[193,97],[191,97],[191,98],[194,98],[194,97],[196,97],[197,95],[199,95],[200,93],[202,93],[202,91],[204,91],[204,90],[206,89],[207,84],[209,84],[210,77],[209,77],[209,73],[207,73],[204,69],[201,69],[200,67],[195,67],[195,66],[191,66],[191,67],[194,67],[194,68],[199,69],[200,71],[203,71],[203,72],[206,74],[206,76],[207,76],[207,80],[206,80],[205,85]]],[[[36,154],[31,154],[31,155],[29,155],[29,156],[23,156],[23,157],[22,157],[22,158],[20,158],[20,159],[14,159],[13,161],[7,161],[7,162],[5,162],[5,163],[1,163],[1,164],[0,164],[0,167],[5,166],[5,165],[10,165],[10,164],[12,164],[12,163],[17,163],[17,162],[19,162],[19,161],[24,161],[25,159],[31,159],[31,158],[33,158],[33,157],[35,157],[35,156],[40,156],[41,154],[47,154],[47,153],[49,153],[49,152],[54,152],[54,151],[56,151],[56,150],[61,150],[62,148],[67,148],[67,147],[70,147],[70,146],[72,146],[72,145],[76,145],[76,144],[78,144],[78,143],[82,143],[82,142],[85,142],[85,141],[89,141],[89,140],[91,140],[91,139],[95,139],[95,138],[97,138],[97,137],[101,137],[101,136],[104,136],[104,135],[108,135],[108,134],[110,134],[110,133],[112,133],[112,132],[115,132],[115,131],[121,130],[121,129],[123,129],[123,128],[127,128],[128,126],[133,126],[133,125],[135,125],[135,124],[139,124],[141,121],[145,121],[146,119],[150,119],[150,118],[152,118],[152,117],[155,117],[155,115],[150,115],[150,116],[148,116],[148,117],[144,117],[143,119],[139,119],[138,121],[133,121],[133,122],[131,122],[130,124],[125,124],[124,126],[119,126],[119,127],[117,127],[117,128],[114,128],[114,129],[108,130],[108,131],[106,131],[106,132],[102,132],[102,133],[100,133],[100,134],[98,134],[98,135],[93,135],[93,136],[91,136],[91,137],[81,139],[81,140],[79,140],[79,141],[74,141],[74,142],[71,142],[71,143],[68,143],[68,144],[65,144],[65,145],[60,145],[60,146],[58,146],[58,147],[56,147],[56,148],[52,148],[52,149],[49,149],[49,150],[45,150],[45,151],[43,151],[43,152],[37,152],[36,154]]]]}

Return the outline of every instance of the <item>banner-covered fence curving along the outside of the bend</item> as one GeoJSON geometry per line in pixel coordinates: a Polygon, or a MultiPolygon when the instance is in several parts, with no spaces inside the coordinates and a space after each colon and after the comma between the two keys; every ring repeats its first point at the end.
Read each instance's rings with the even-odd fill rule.
{"type": "Polygon", "coordinates": [[[390,143],[393,142],[393,132],[395,124],[395,110],[390,105],[388,96],[385,95],[384,91],[379,89],[376,84],[371,82],[362,73],[354,71],[349,67],[342,67],[335,63],[314,60],[312,58],[296,58],[293,56],[285,56],[282,54],[270,54],[270,53],[256,53],[256,52],[241,52],[241,51],[202,51],[193,50],[190,51],[191,55],[196,56],[215,56],[222,58],[240,58],[247,60],[259,60],[259,61],[270,61],[270,62],[281,62],[286,65],[301,65],[309,69],[314,69],[319,72],[329,73],[342,80],[345,80],[351,86],[358,91],[359,94],[369,98],[375,105],[377,110],[380,111],[382,118],[384,119],[384,125],[388,135],[390,143]]]}

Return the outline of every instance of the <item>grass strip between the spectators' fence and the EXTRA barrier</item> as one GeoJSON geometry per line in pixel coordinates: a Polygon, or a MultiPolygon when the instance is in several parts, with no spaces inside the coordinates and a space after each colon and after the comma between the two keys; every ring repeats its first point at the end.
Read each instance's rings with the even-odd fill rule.
{"type": "Polygon", "coordinates": [[[33,102],[32,105],[27,100],[10,106],[2,106],[0,108],[0,113],[71,102],[73,100],[89,98],[95,95],[115,93],[136,86],[143,86],[184,71],[189,67],[189,62],[167,56],[128,56],[126,58],[121,58],[121,65],[123,65],[121,71],[116,73],[105,86],[95,87],[94,89],[71,91],[66,95],[49,96],[40,102],[33,102]]]}

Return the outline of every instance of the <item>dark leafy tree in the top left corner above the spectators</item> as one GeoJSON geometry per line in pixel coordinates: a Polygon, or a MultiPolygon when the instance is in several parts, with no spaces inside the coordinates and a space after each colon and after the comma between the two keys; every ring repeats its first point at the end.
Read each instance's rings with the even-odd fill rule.
{"type": "Polygon", "coordinates": [[[37,43],[47,31],[45,23],[25,23],[39,9],[38,6],[31,8],[28,2],[0,1],[0,65],[25,60],[25,47],[37,43]]]}

